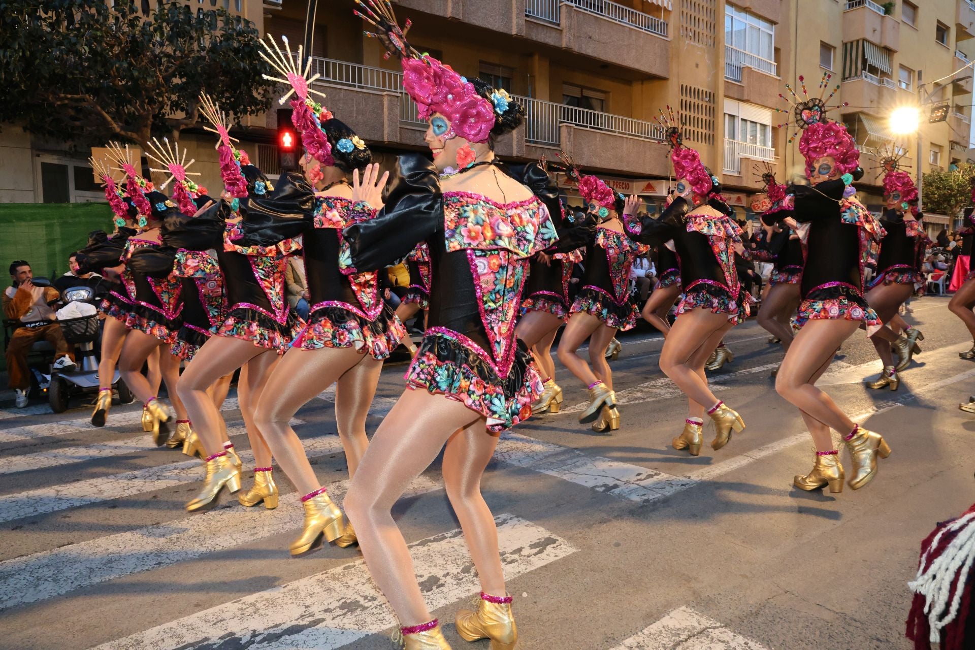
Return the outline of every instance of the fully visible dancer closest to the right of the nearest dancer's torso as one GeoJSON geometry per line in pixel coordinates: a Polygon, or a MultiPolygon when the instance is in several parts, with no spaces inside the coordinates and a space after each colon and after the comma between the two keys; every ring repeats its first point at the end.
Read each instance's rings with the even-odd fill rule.
{"type": "Polygon", "coordinates": [[[624,198],[596,176],[582,175],[571,160],[565,158],[565,163],[566,174],[586,202],[587,214],[599,225],[586,243],[581,288],[559,342],[559,361],[589,389],[589,405],[579,422],[592,422],[594,431],[615,431],[619,429],[619,409],[605,352],[618,330],[637,324],[637,306],[630,299],[630,270],[637,255],[647,248],[623,232],[624,198]],[[576,353],[586,339],[592,366],[576,353]]]}

